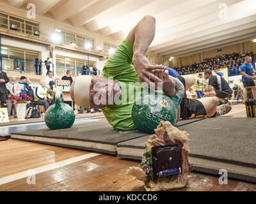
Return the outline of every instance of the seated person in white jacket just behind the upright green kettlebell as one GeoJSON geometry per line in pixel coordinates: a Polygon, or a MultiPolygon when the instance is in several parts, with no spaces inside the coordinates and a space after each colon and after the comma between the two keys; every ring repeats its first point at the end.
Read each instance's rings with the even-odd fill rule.
{"type": "Polygon", "coordinates": [[[45,80],[40,80],[39,85],[35,89],[35,102],[41,103],[42,105],[44,105],[45,110],[49,108],[49,102],[51,102],[51,96],[48,92],[48,89],[45,87],[45,80]]]}

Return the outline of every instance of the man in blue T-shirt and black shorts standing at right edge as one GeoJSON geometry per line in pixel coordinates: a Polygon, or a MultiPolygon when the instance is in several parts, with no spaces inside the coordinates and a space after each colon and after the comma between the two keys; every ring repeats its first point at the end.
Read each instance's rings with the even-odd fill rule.
{"type": "Polygon", "coordinates": [[[244,63],[241,65],[241,74],[242,74],[242,82],[244,85],[244,102],[247,100],[247,91],[248,87],[252,88],[253,98],[256,99],[256,87],[254,80],[256,79],[255,70],[252,66],[252,57],[246,56],[244,57],[244,63]]]}

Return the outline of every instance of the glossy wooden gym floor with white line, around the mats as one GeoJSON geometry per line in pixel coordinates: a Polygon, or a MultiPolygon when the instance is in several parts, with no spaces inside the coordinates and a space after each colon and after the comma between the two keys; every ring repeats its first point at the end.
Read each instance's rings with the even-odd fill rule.
{"type": "MultiPolygon", "coordinates": [[[[246,117],[245,106],[233,105],[224,117],[246,117]]],[[[125,174],[137,161],[12,139],[0,142],[0,155],[0,191],[144,191],[143,182],[125,174]]],[[[212,175],[186,177],[189,185],[176,191],[256,191],[239,180],[220,185],[212,175]]]]}

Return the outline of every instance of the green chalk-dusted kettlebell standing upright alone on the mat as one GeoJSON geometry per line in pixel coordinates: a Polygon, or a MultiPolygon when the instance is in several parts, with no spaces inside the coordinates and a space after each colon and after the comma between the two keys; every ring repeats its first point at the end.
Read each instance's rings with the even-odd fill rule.
{"type": "Polygon", "coordinates": [[[63,93],[56,91],[55,104],[45,112],[44,121],[50,129],[70,128],[75,122],[76,115],[73,109],[63,103],[63,93]]]}

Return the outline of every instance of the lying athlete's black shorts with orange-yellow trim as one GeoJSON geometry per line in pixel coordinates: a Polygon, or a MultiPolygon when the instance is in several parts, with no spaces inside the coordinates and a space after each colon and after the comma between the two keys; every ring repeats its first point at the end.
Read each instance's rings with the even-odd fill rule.
{"type": "MultiPolygon", "coordinates": [[[[182,82],[184,88],[186,87],[186,81],[183,77],[176,77],[182,82]]],[[[186,89],[186,88],[185,88],[186,89]]],[[[200,117],[206,117],[207,113],[204,105],[197,99],[189,99],[186,96],[186,91],[182,101],[180,102],[180,119],[195,119],[200,117]]]]}

